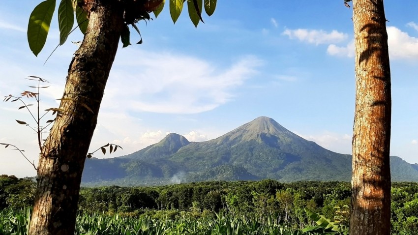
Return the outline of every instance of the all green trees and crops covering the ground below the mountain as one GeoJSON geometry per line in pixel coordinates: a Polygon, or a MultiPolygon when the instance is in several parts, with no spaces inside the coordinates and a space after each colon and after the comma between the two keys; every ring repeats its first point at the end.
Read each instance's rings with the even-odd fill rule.
{"type": "MultiPolygon", "coordinates": [[[[25,234],[34,182],[0,176],[0,234],[25,234]]],[[[76,234],[346,234],[348,182],[82,188],[76,234]]],[[[393,183],[392,234],[418,232],[418,183],[393,183]]]]}

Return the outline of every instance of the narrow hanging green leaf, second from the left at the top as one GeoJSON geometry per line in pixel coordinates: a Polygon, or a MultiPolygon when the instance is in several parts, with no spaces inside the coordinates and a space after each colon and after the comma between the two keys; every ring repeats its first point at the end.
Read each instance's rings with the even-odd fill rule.
{"type": "Polygon", "coordinates": [[[60,28],[60,45],[68,38],[74,25],[74,12],[71,0],[61,0],[58,7],[58,26],[60,28]]]}

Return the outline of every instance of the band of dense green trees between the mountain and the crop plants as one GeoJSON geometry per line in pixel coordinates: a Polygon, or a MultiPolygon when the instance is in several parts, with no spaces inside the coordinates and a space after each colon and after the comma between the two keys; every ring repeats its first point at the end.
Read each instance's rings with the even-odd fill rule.
{"type": "MultiPolygon", "coordinates": [[[[35,183],[31,179],[3,175],[0,176],[0,186],[0,209],[18,210],[33,203],[35,183]]],[[[269,220],[275,220],[275,223],[295,231],[315,227],[305,208],[323,214],[324,218],[343,228],[347,227],[350,197],[350,183],[336,181],[209,181],[153,187],[107,186],[82,188],[79,211],[83,216],[95,214],[97,220],[101,216],[100,221],[118,215],[147,218],[154,225],[179,219],[181,223],[193,219],[219,219],[219,214],[222,214],[232,221],[244,223],[242,220],[247,219],[263,226],[271,223],[269,220]],[[99,216],[98,213],[104,214],[99,216]]],[[[21,214],[25,215],[25,212],[21,214]]],[[[417,183],[393,183],[391,218],[393,234],[417,234],[417,183]]]]}

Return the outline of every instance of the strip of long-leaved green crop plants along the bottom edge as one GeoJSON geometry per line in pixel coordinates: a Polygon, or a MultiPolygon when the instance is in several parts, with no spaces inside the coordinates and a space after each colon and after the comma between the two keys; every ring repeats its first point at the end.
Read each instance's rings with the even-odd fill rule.
{"type": "MultiPolygon", "coordinates": [[[[28,208],[1,211],[0,234],[26,235],[30,222],[28,208]]],[[[340,234],[329,229],[308,227],[294,229],[276,216],[268,214],[265,221],[255,218],[234,217],[226,213],[195,218],[181,214],[174,219],[121,216],[119,214],[79,214],[75,228],[76,235],[319,235],[340,234]]]]}

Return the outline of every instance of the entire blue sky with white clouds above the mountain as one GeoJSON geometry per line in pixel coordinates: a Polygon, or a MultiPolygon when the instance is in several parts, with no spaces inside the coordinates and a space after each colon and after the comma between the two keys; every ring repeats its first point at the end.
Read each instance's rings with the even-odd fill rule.
{"type": "MultiPolygon", "coordinates": [[[[19,94],[29,75],[49,80],[44,108],[57,107],[65,76],[82,40],[76,30],[59,42],[57,14],[43,51],[31,54],[26,29],[40,1],[0,7],[0,96],[19,94]]],[[[391,154],[418,163],[418,2],[385,2],[392,76],[391,154]]],[[[186,10],[186,9],[185,9],[186,10]]],[[[175,25],[165,6],[157,19],[139,23],[144,43],[120,48],[99,113],[91,149],[108,142],[126,155],[157,143],[167,133],[206,141],[268,116],[307,140],[351,153],[355,80],[352,9],[343,0],[321,4],[293,0],[219,1],[195,29],[187,11],[175,25]],[[262,3],[261,3],[262,2],[262,3]]],[[[131,42],[139,40],[132,31],[131,42]]],[[[0,142],[39,150],[30,121],[15,103],[0,105],[0,142]]],[[[0,149],[0,174],[33,176],[17,152],[0,149]]]]}

